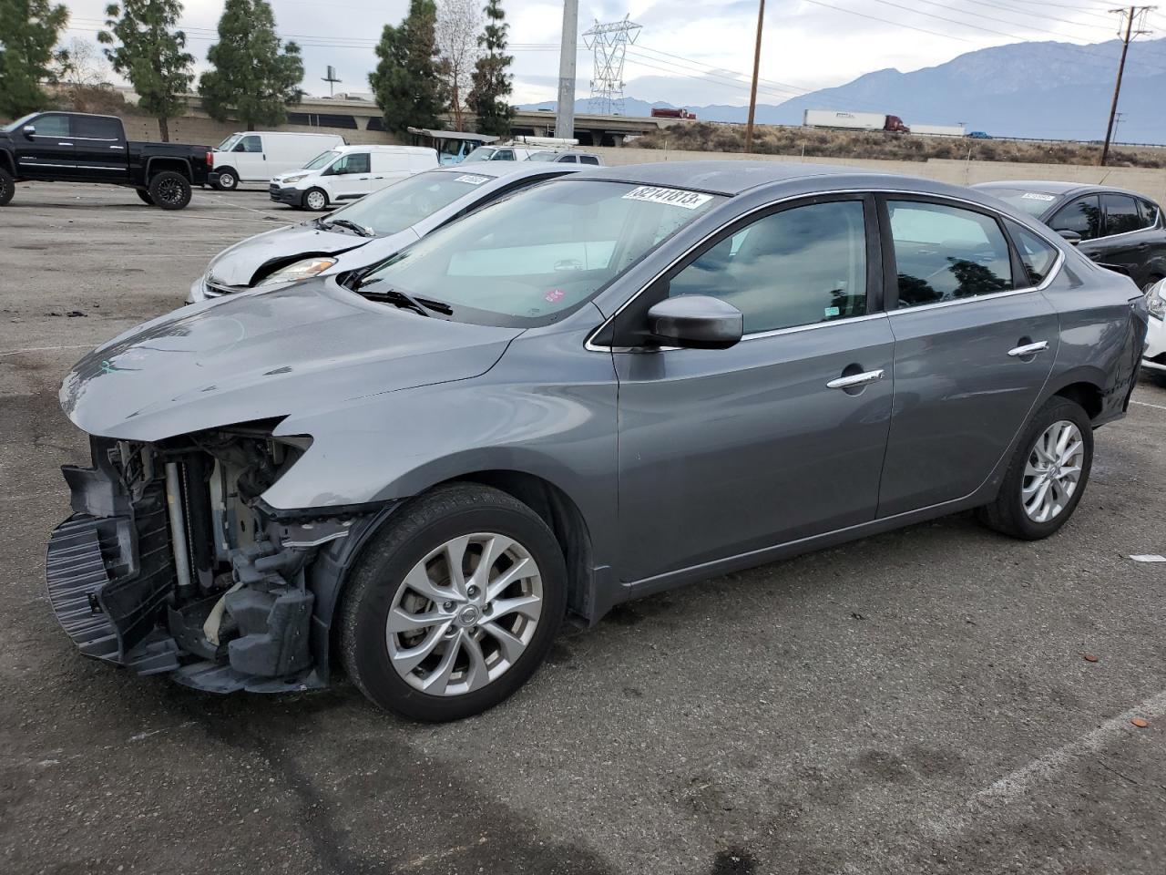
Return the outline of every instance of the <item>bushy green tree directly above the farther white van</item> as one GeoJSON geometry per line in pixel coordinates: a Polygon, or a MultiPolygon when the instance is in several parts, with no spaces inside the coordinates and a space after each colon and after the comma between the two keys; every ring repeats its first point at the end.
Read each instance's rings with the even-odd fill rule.
{"type": "Polygon", "coordinates": [[[282,125],[288,104],[303,96],[300,47],[289,42],[281,48],[267,0],[226,0],[219,41],[206,60],[215,69],[202,75],[198,93],[216,121],[229,120],[233,108],[248,131],[255,125],[282,125]]]}

